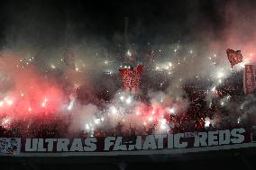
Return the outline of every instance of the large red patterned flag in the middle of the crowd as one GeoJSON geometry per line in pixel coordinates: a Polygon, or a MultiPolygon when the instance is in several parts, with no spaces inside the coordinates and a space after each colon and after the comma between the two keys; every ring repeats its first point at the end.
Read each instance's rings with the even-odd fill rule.
{"type": "Polygon", "coordinates": [[[139,65],[135,69],[133,68],[121,68],[119,69],[123,78],[123,89],[135,93],[139,90],[140,82],[142,79],[143,66],[139,65]]]}

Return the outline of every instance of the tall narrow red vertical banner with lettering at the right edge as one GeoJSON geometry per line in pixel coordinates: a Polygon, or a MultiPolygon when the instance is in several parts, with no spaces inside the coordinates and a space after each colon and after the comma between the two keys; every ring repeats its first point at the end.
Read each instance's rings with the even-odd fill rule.
{"type": "Polygon", "coordinates": [[[243,74],[244,94],[251,94],[256,89],[255,67],[253,65],[245,65],[243,74]]]}

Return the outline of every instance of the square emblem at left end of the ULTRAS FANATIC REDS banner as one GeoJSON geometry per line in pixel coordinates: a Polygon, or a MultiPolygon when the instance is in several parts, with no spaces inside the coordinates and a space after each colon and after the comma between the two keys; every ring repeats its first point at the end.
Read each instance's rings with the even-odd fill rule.
{"type": "Polygon", "coordinates": [[[21,151],[21,139],[0,138],[0,154],[19,155],[21,151]]]}

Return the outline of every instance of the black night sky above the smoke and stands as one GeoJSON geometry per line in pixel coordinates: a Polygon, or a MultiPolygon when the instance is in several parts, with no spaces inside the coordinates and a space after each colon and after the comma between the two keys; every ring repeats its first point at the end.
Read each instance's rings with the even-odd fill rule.
{"type": "Polygon", "coordinates": [[[221,0],[4,1],[0,6],[0,41],[7,46],[16,40],[48,46],[63,43],[68,32],[70,43],[123,43],[125,16],[129,17],[132,43],[193,42],[206,36],[214,40],[222,37],[224,10],[231,2],[241,4],[221,0]]]}

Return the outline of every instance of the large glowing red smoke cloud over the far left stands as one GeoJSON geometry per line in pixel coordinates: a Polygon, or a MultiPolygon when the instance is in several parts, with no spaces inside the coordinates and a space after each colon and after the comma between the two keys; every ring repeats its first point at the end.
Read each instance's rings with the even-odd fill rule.
{"type": "Polygon", "coordinates": [[[23,66],[13,54],[0,60],[0,116],[24,119],[59,112],[64,101],[60,85],[35,67],[23,66]]]}

